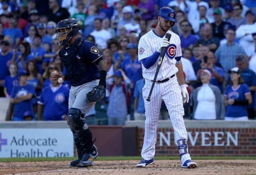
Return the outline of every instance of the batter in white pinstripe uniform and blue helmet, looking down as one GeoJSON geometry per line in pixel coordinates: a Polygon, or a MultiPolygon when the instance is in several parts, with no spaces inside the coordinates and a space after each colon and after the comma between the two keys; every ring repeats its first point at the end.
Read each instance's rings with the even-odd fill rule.
{"type": "Polygon", "coordinates": [[[169,29],[177,22],[175,11],[169,7],[163,7],[157,14],[157,27],[141,37],[138,46],[138,59],[142,63],[145,86],[142,89],[145,102],[145,136],[141,150],[141,161],[136,167],[146,167],[154,162],[155,144],[157,141],[157,122],[162,100],[169,111],[169,116],[175,132],[175,140],[178,144],[181,167],[197,167],[191,160],[187,146],[187,131],[183,121],[183,102],[188,102],[187,85],[183,76],[181,63],[181,43],[177,34],[169,29]],[[168,41],[165,34],[170,33],[168,41]],[[163,63],[157,75],[156,83],[148,102],[147,96],[157,69],[158,58],[161,49],[167,47],[163,63]],[[181,95],[182,94],[182,95],[181,95]]]}

